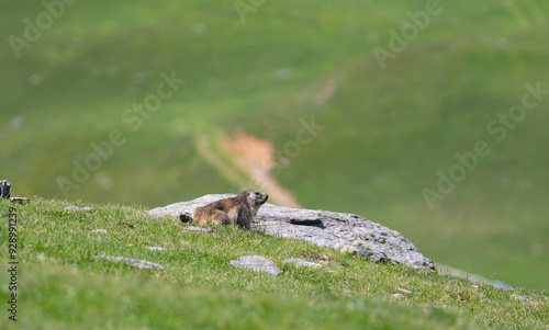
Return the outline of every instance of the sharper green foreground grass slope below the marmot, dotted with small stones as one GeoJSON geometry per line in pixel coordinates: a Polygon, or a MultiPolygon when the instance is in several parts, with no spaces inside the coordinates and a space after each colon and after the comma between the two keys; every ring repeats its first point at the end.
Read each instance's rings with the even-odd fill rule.
{"type": "MultiPolygon", "coordinates": [[[[178,219],[154,218],[142,208],[77,204],[92,210],[64,210],[69,202],[37,196],[27,205],[0,202],[4,228],[9,207],[16,209],[20,262],[18,322],[4,321],[2,311],[5,329],[542,329],[549,321],[546,292],[474,287],[464,278],[376,264],[303,241],[234,227],[187,232],[178,219]],[[152,261],[165,271],[93,259],[101,254],[152,261]],[[265,255],[283,272],[228,264],[248,254],[265,255]],[[334,272],[282,265],[287,258],[334,272]],[[392,297],[399,288],[418,294],[392,297]],[[522,295],[533,300],[514,299],[522,295]]],[[[0,249],[8,260],[8,230],[0,249]]],[[[0,299],[8,301],[10,276],[0,274],[0,299]]]]}

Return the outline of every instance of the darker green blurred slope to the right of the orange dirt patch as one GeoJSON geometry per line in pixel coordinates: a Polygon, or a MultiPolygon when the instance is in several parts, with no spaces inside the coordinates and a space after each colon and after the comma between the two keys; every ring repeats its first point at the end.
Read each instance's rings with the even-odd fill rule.
{"type": "Polygon", "coordinates": [[[530,58],[524,49],[524,44],[544,38],[545,34],[525,32],[509,41],[516,46],[506,49],[483,39],[415,47],[378,80],[365,79],[379,71],[378,64],[369,60],[332,76],[339,90],[328,104],[317,107],[310,101],[321,84],[299,100],[256,112],[245,120],[245,127],[259,135],[258,126],[277,127],[270,130],[271,138],[283,151],[300,127],[285,124],[288,117],[314,117],[325,129],[278,177],[304,205],[368,215],[399,228],[435,260],[547,287],[549,175],[544,164],[549,156],[540,143],[549,140],[542,128],[549,120],[549,100],[528,112],[501,143],[500,134],[485,128],[498,113],[520,103],[525,83],[541,81],[549,89],[549,67],[542,64],[547,54],[530,58]],[[479,48],[488,59],[479,58],[479,48]],[[414,79],[399,81],[411,64],[414,79]],[[497,71],[517,64],[519,69],[497,71]],[[493,72],[488,76],[479,68],[493,72]],[[502,81],[511,83],[493,91],[502,81]],[[498,95],[502,90],[504,96],[498,95]],[[437,171],[448,174],[458,162],[455,153],[473,151],[479,140],[486,141],[492,152],[479,157],[478,167],[430,212],[422,190],[436,190],[437,171]],[[544,252],[536,251],[537,246],[544,252]],[[471,258],[482,263],[474,264],[471,258]]]}

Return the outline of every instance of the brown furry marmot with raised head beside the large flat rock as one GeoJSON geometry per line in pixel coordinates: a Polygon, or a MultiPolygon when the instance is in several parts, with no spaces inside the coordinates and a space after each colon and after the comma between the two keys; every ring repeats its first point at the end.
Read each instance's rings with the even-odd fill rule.
{"type": "Polygon", "coordinates": [[[246,190],[236,197],[224,198],[197,207],[192,218],[186,214],[179,215],[183,223],[197,221],[206,224],[209,221],[217,225],[238,225],[240,228],[250,230],[257,210],[267,202],[269,195],[257,190],[246,190]]]}

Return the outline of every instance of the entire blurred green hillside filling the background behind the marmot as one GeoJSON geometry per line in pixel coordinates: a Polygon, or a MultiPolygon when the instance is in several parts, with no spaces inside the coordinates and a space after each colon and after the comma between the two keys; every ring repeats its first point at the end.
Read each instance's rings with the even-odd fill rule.
{"type": "Polygon", "coordinates": [[[272,141],[273,174],[304,207],[549,288],[549,3],[51,3],[0,4],[0,179],[15,195],[154,207],[236,193],[197,141],[216,152],[220,135],[248,132],[272,141]],[[512,112],[526,86],[536,104],[512,112]],[[303,122],[323,129],[305,143],[303,122]],[[490,152],[452,172],[479,141],[490,152]],[[77,182],[75,164],[93,170],[77,182]],[[440,194],[439,173],[460,180],[440,194]]]}

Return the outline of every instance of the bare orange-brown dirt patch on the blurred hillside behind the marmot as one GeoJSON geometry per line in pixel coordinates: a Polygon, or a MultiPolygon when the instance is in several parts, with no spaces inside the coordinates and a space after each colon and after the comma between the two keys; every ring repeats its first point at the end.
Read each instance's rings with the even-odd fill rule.
{"type": "Polygon", "coordinates": [[[280,206],[301,207],[292,192],[282,187],[270,174],[274,169],[274,148],[267,140],[239,133],[235,139],[224,138],[221,146],[231,161],[251,177],[254,183],[269,194],[270,200],[280,206]]]}

